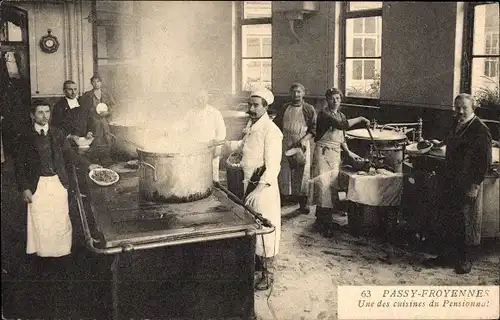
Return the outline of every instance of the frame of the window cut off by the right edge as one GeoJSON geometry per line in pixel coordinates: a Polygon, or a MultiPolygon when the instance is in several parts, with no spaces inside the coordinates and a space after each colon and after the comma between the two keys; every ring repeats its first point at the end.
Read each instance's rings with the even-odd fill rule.
{"type": "MultiPolygon", "coordinates": [[[[462,53],[462,71],[460,79],[460,92],[472,94],[472,65],[474,59],[481,58],[499,58],[500,50],[497,54],[474,55],[474,14],[476,6],[485,4],[495,4],[494,1],[466,2],[464,8],[464,27],[463,27],[463,53],[462,53]]],[[[499,40],[500,41],[500,40],[499,40]]],[[[497,65],[497,68],[500,67],[497,65]]]]}

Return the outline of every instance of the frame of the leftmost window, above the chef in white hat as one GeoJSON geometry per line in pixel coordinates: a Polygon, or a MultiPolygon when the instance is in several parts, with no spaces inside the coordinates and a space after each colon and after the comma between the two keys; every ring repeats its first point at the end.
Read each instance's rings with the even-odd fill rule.
{"type": "MultiPolygon", "coordinates": [[[[272,2],[271,2],[272,5],[272,2]]],[[[250,92],[243,90],[243,60],[271,60],[271,87],[273,86],[272,82],[272,68],[273,68],[273,52],[272,52],[272,26],[273,26],[273,18],[272,11],[271,17],[269,18],[244,18],[244,1],[235,1],[236,6],[236,36],[235,36],[235,53],[236,53],[236,61],[235,61],[235,84],[236,84],[236,93],[240,96],[247,96],[250,92]],[[262,25],[262,24],[270,24],[271,25],[271,56],[270,57],[243,57],[243,26],[246,25],[262,25]]]]}

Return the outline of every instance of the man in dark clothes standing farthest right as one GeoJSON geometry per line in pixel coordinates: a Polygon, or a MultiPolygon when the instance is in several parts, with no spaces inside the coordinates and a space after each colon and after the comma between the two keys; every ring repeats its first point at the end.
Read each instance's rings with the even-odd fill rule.
{"type": "Polygon", "coordinates": [[[439,210],[441,255],[426,261],[428,266],[455,268],[469,273],[475,238],[480,239],[476,202],[479,188],[492,162],[492,139],[488,127],[474,114],[470,94],[459,94],[453,104],[454,122],[446,144],[443,179],[444,210],[439,210]]]}

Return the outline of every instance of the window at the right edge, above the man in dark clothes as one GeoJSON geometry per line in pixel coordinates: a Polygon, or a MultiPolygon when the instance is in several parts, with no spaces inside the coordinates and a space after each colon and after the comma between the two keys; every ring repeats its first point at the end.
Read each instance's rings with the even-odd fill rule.
{"type": "Polygon", "coordinates": [[[500,81],[499,8],[498,3],[467,5],[462,90],[476,95],[480,90],[494,90],[500,81]]]}

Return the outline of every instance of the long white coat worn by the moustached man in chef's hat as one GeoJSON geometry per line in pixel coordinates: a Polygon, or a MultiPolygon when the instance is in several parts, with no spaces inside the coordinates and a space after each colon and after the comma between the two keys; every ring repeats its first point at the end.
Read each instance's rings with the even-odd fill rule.
{"type": "Polygon", "coordinates": [[[280,171],[283,134],[271,121],[267,113],[253,125],[249,121],[245,130],[245,137],[240,141],[231,141],[230,149],[232,151],[242,151],[241,166],[244,174],[245,191],[255,169],[263,165],[266,166],[259,183],[269,184],[269,186],[256,199],[252,209],[262,214],[264,218],[269,219],[275,226],[273,233],[257,236],[256,254],[263,257],[273,257],[278,254],[281,237],[281,203],[278,173],[280,171]]]}

